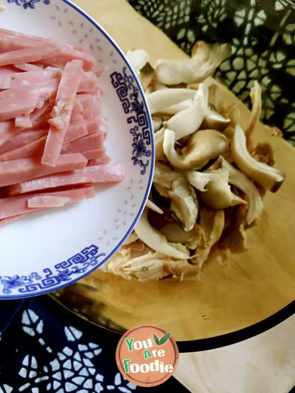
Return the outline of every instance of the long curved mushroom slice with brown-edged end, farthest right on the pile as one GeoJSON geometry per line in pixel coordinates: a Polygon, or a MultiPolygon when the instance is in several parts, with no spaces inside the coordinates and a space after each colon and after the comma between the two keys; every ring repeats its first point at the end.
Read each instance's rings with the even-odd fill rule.
{"type": "MultiPolygon", "coordinates": [[[[165,137],[164,143],[165,144],[165,137]]],[[[165,148],[164,148],[165,152],[165,148]]],[[[256,161],[251,157],[246,146],[246,137],[243,129],[237,123],[233,140],[231,143],[231,152],[237,167],[251,179],[262,185],[266,190],[275,193],[282,185],[285,175],[278,169],[256,161]]]]}

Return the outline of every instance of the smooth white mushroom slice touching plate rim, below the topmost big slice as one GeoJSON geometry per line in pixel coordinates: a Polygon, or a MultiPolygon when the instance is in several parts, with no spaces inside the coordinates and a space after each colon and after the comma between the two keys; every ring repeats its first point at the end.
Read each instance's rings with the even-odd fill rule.
{"type": "Polygon", "coordinates": [[[147,96],[148,109],[151,114],[162,109],[178,104],[184,100],[193,99],[196,90],[171,88],[153,91],[147,96]]]}

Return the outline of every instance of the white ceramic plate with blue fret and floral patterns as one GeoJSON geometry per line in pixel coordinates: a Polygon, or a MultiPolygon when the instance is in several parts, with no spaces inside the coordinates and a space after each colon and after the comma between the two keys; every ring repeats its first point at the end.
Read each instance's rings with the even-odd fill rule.
{"type": "Polygon", "coordinates": [[[44,294],[86,276],[124,242],[148,197],[154,166],[151,119],[143,91],[113,39],[67,0],[0,0],[0,27],[52,37],[91,50],[107,116],[107,153],[125,180],[96,187],[96,197],[32,214],[0,229],[0,298],[44,294]]]}

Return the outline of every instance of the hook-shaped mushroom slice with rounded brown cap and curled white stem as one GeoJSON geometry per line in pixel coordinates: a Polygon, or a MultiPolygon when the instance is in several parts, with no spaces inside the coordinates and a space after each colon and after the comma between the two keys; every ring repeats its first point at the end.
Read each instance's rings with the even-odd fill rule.
{"type": "Polygon", "coordinates": [[[164,132],[163,150],[174,168],[201,169],[212,159],[217,159],[228,148],[226,137],[216,130],[195,132],[181,150],[175,150],[175,132],[166,129],[164,132]]]}

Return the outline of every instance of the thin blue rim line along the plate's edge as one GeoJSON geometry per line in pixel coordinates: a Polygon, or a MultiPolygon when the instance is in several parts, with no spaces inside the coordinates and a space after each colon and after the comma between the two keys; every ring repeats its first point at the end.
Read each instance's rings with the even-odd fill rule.
{"type": "Polygon", "coordinates": [[[148,104],[146,101],[146,97],[145,97],[145,93],[142,89],[142,86],[139,82],[139,79],[137,77],[137,75],[134,73],[131,65],[129,64],[129,61],[127,60],[126,56],[124,55],[123,51],[121,50],[121,48],[118,46],[118,44],[115,42],[115,40],[107,33],[107,31],[102,28],[93,18],[90,17],[90,15],[83,11],[80,7],[78,7],[76,4],[72,3],[69,0],[60,0],[64,3],[66,3],[67,5],[69,5],[70,7],[74,8],[77,12],[79,12],[79,14],[83,15],[95,28],[97,28],[103,35],[104,37],[113,45],[113,47],[116,49],[116,51],[118,52],[118,54],[122,57],[122,59],[125,61],[126,65],[128,66],[129,71],[131,72],[136,84],[138,85],[138,89],[142,95],[142,100],[143,103],[145,105],[145,109],[147,111],[147,115],[148,115],[148,123],[149,123],[149,128],[150,128],[150,135],[151,135],[151,168],[150,168],[150,175],[149,175],[149,179],[148,179],[148,188],[143,200],[143,203],[139,209],[139,212],[137,214],[137,216],[135,217],[135,220],[133,221],[132,225],[129,227],[127,233],[125,234],[125,236],[123,237],[123,239],[120,241],[120,243],[118,244],[118,246],[107,255],[106,258],[104,258],[101,262],[99,262],[98,266],[95,266],[93,269],[89,269],[89,271],[87,271],[87,273],[85,274],[81,274],[81,276],[77,277],[76,279],[71,280],[70,282],[64,283],[64,284],[60,284],[57,285],[56,287],[52,288],[52,289],[45,289],[45,290],[40,290],[37,293],[26,293],[26,294],[20,294],[20,295],[0,295],[0,300],[13,300],[13,299],[22,299],[22,298],[29,298],[29,297],[34,297],[34,296],[41,296],[41,295],[45,295],[47,293],[53,292],[53,291],[57,291],[61,288],[64,288],[65,286],[71,285],[76,281],[79,281],[81,279],[83,279],[84,277],[88,276],[90,273],[94,272],[94,270],[96,270],[98,267],[102,266],[112,255],[114,255],[114,253],[116,253],[118,251],[118,249],[121,247],[121,245],[124,243],[124,241],[128,238],[129,234],[132,232],[133,228],[135,227],[135,225],[137,224],[138,220],[140,219],[142,212],[145,208],[147,199],[148,199],[148,195],[151,189],[151,185],[152,185],[152,179],[153,179],[153,172],[154,172],[154,166],[155,166],[155,145],[154,145],[154,136],[153,136],[153,128],[152,128],[152,121],[151,121],[151,115],[148,109],[148,104]]]}

